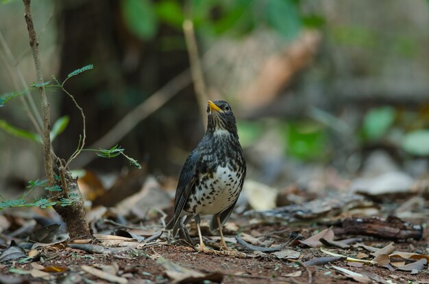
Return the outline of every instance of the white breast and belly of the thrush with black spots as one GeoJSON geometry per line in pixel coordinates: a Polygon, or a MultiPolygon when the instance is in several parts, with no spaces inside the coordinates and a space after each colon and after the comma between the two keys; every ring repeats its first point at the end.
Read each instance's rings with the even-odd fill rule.
{"type": "Polygon", "coordinates": [[[189,198],[191,212],[201,215],[219,213],[231,206],[240,193],[243,172],[218,166],[212,178],[201,176],[196,190],[189,198]]]}

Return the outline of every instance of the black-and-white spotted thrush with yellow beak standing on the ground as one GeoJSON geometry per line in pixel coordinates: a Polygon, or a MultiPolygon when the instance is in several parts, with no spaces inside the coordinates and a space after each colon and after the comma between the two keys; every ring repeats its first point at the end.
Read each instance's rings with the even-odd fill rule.
{"type": "Polygon", "coordinates": [[[173,237],[193,244],[185,226],[193,218],[199,236],[198,252],[212,252],[199,227],[200,215],[212,215],[210,230],[219,229],[221,248],[229,250],[222,226],[230,217],[246,176],[246,163],[238,141],[236,119],[228,102],[208,101],[206,134],[189,154],[180,173],[174,202],[174,217],[167,224],[173,237]]]}

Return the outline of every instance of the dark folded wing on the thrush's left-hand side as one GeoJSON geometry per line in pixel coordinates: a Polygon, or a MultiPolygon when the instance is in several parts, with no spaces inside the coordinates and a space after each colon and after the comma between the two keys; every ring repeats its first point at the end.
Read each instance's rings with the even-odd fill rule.
{"type": "Polygon", "coordinates": [[[179,177],[179,183],[177,184],[177,189],[175,191],[174,217],[173,220],[167,224],[167,229],[176,227],[175,225],[180,219],[180,214],[184,209],[186,200],[188,200],[189,193],[191,193],[195,181],[198,179],[196,171],[197,158],[198,152],[197,150],[193,150],[193,152],[189,154],[188,158],[186,158],[183,165],[182,172],[179,177]]]}

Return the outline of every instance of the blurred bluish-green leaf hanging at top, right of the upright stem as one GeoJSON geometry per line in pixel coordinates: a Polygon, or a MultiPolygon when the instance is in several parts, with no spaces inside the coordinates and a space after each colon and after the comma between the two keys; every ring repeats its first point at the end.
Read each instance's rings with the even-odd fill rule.
{"type": "Polygon", "coordinates": [[[294,0],[268,0],[265,10],[269,25],[286,39],[295,38],[302,27],[298,3],[294,0]]]}

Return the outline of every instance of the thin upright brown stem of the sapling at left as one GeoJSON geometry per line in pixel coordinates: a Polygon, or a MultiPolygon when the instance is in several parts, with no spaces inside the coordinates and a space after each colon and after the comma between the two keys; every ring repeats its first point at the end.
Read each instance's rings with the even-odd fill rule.
{"type": "Polygon", "coordinates": [[[44,147],[44,159],[45,159],[45,171],[48,180],[49,187],[55,185],[55,174],[53,173],[53,161],[51,155],[51,124],[49,121],[49,102],[45,92],[45,87],[43,86],[43,73],[42,66],[40,63],[40,55],[38,50],[38,40],[36,37],[36,31],[34,30],[32,12],[30,9],[31,0],[23,0],[25,8],[25,22],[27,23],[27,30],[29,36],[29,45],[32,47],[32,53],[34,58],[34,64],[36,66],[36,78],[38,84],[38,93],[40,97],[40,102],[42,104],[42,119],[43,119],[43,134],[42,141],[44,147]]]}

